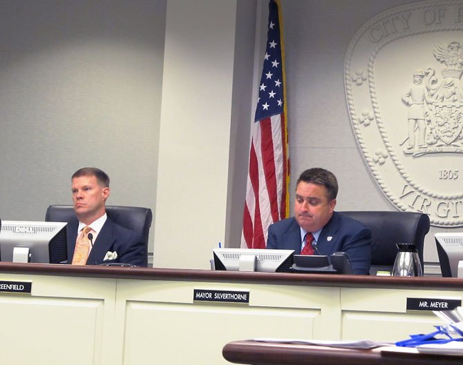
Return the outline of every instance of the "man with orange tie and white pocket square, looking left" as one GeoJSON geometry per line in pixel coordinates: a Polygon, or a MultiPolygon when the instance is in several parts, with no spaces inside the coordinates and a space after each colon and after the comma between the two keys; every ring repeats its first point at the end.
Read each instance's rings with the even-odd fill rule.
{"type": "Polygon", "coordinates": [[[106,215],[110,193],[106,172],[98,168],[77,170],[72,177],[72,192],[76,218],[68,223],[68,263],[147,266],[142,236],[106,215]],[[86,236],[83,241],[78,239],[81,236],[86,236]]]}

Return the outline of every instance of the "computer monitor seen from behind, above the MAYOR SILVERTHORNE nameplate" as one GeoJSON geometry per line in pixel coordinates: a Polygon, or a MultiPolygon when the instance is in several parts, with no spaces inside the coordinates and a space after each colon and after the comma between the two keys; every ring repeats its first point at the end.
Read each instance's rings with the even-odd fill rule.
{"type": "Polygon", "coordinates": [[[274,273],[290,271],[294,250],[215,248],[213,253],[216,270],[274,273]]]}

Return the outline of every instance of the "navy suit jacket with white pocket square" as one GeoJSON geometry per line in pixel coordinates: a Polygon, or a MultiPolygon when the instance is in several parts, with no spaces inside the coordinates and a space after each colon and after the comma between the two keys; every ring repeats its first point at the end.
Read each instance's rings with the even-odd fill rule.
{"type": "MultiPolygon", "coordinates": [[[[73,262],[75,240],[79,221],[77,218],[68,223],[67,244],[68,263],[73,262]]],[[[93,248],[88,255],[87,265],[122,263],[137,266],[147,266],[148,257],[142,236],[115,224],[111,219],[106,218],[102,230],[98,233],[97,239],[93,242],[93,248]],[[116,252],[117,259],[103,261],[108,251],[116,252]]]]}

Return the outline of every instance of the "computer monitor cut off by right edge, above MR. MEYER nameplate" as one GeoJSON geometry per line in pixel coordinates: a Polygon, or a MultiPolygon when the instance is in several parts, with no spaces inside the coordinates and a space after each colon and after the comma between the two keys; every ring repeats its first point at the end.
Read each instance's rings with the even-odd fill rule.
{"type": "Polygon", "coordinates": [[[443,277],[458,277],[458,262],[463,260],[463,233],[434,235],[443,277]]]}

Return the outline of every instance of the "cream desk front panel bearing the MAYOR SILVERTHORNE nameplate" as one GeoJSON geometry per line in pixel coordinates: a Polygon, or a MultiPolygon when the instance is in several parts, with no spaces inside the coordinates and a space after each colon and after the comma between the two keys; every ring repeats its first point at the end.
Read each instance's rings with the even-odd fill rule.
{"type": "Polygon", "coordinates": [[[240,335],[340,335],[336,332],[340,328],[337,288],[124,280],[117,286],[116,316],[124,315],[125,337],[130,339],[125,342],[124,359],[129,364],[141,364],[153,353],[162,363],[169,358],[169,365],[226,364],[223,344],[240,335]],[[195,302],[195,288],[247,290],[249,304],[195,302]],[[153,331],[146,331],[147,327],[153,331]],[[182,344],[182,351],[173,352],[170,343],[182,344]]]}

